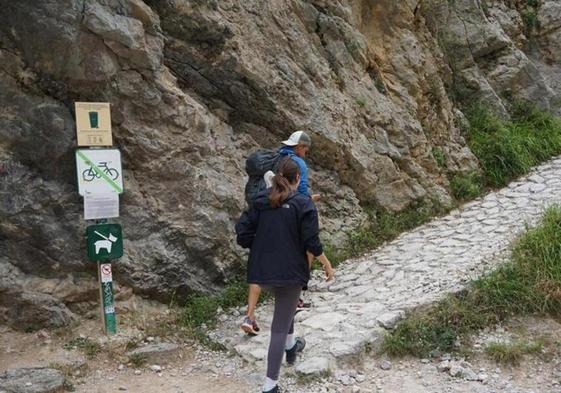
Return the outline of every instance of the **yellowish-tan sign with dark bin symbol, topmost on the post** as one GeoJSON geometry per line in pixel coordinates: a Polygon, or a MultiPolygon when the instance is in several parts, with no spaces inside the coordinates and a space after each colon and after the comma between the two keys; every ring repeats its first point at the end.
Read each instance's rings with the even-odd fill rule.
{"type": "Polygon", "coordinates": [[[78,146],[113,146],[108,102],[76,102],[78,146]]]}

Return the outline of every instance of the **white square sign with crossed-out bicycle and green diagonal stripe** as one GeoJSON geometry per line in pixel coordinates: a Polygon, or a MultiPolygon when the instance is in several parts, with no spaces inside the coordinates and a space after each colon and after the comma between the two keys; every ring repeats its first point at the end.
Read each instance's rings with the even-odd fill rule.
{"type": "Polygon", "coordinates": [[[123,192],[121,152],[118,149],[76,150],[78,192],[108,194],[123,192]]]}

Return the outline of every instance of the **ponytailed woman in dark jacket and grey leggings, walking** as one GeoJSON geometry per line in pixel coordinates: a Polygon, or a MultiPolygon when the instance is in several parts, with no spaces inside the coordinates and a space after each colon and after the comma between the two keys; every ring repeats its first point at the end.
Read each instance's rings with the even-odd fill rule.
{"type": "Polygon", "coordinates": [[[310,268],[306,252],[319,259],[327,279],[334,270],[319,240],[318,215],[309,196],[296,193],[298,165],[284,159],[273,177],[273,186],[256,199],[236,225],[237,241],[249,248],[247,281],[270,288],[275,296],[267,378],[263,392],[277,393],[283,352],[294,364],[296,353],[306,345],[294,337],[294,313],[302,287],[308,284],[310,268]]]}

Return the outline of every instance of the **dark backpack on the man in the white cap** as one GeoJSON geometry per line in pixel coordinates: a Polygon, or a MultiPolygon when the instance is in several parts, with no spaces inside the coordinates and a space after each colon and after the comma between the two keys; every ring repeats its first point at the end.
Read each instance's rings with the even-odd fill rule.
{"type": "Polygon", "coordinates": [[[245,200],[249,205],[257,198],[257,194],[267,189],[263,175],[267,171],[275,172],[282,156],[276,150],[260,149],[247,157],[247,160],[245,160],[245,171],[249,176],[249,180],[245,185],[245,200]]]}

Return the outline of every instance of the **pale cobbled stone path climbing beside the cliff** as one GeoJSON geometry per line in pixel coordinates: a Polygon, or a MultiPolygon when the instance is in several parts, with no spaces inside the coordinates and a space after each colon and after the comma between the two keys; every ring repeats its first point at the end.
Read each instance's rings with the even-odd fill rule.
{"type": "MultiPolygon", "coordinates": [[[[297,315],[296,333],[308,342],[296,370],[322,373],[361,362],[367,346],[380,343],[385,329],[404,312],[463,288],[508,256],[512,240],[535,224],[544,208],[561,202],[561,158],[445,217],[402,234],[371,255],[339,266],[336,280],[317,272],[307,299],[310,311],[297,315]]],[[[221,317],[212,338],[252,363],[267,353],[272,305],[258,309],[263,334],[248,338],[233,310],[221,317]]]]}

